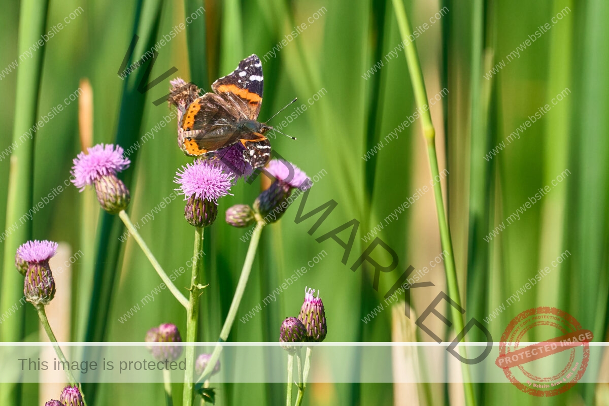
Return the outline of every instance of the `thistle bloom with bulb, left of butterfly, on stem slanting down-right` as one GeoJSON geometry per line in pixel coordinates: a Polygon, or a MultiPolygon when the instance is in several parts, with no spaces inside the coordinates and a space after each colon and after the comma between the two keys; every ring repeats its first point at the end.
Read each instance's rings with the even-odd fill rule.
{"type": "Polygon", "coordinates": [[[87,153],[79,153],[74,158],[71,175],[74,186],[80,192],[88,184],[95,186],[97,200],[102,208],[116,214],[127,208],[130,195],[125,184],[116,174],[129,167],[130,161],[123,155],[119,145],[97,144],[87,149],[87,153]]]}

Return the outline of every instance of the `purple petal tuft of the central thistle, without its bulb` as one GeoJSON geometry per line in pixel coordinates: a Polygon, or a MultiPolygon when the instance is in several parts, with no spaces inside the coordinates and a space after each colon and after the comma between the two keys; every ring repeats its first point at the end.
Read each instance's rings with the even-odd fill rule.
{"type": "Polygon", "coordinates": [[[229,195],[233,184],[233,176],[222,172],[219,166],[209,161],[194,161],[186,164],[175,173],[174,182],[180,187],[175,189],[184,195],[184,200],[194,196],[202,200],[216,203],[220,197],[229,195]]]}

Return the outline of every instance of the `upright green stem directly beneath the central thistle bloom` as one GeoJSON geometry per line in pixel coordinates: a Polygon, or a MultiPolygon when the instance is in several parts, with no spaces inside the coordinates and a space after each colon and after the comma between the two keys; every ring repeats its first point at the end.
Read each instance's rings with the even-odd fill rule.
{"type": "MultiPolygon", "coordinates": [[[[201,268],[203,261],[199,257],[203,249],[203,228],[195,228],[194,255],[192,260],[192,277],[190,287],[190,300],[186,307],[186,342],[194,343],[197,341],[197,326],[199,323],[199,298],[201,296],[201,268]]],[[[192,406],[194,386],[192,385],[194,371],[194,346],[186,346],[186,371],[184,373],[184,396],[183,406],[192,406]]]]}

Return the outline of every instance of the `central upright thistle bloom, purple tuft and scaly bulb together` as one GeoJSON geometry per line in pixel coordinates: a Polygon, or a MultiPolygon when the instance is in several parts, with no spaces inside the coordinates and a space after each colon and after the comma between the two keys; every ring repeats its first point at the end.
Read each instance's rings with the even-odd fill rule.
{"type": "Polygon", "coordinates": [[[195,161],[176,172],[175,189],[185,196],[186,221],[195,227],[213,224],[218,214],[218,199],[228,195],[234,177],[209,161],[195,161]]]}

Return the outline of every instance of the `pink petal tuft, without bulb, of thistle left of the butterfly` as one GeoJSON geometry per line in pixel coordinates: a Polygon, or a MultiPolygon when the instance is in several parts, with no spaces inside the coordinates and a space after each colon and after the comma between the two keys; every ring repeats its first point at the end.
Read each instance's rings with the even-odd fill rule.
{"type": "Polygon", "coordinates": [[[74,158],[74,166],[70,172],[74,177],[72,183],[80,192],[86,185],[94,184],[101,177],[116,175],[127,169],[131,163],[128,158],[122,156],[123,149],[119,145],[97,144],[86,150],[86,154],[81,152],[74,158]]]}

